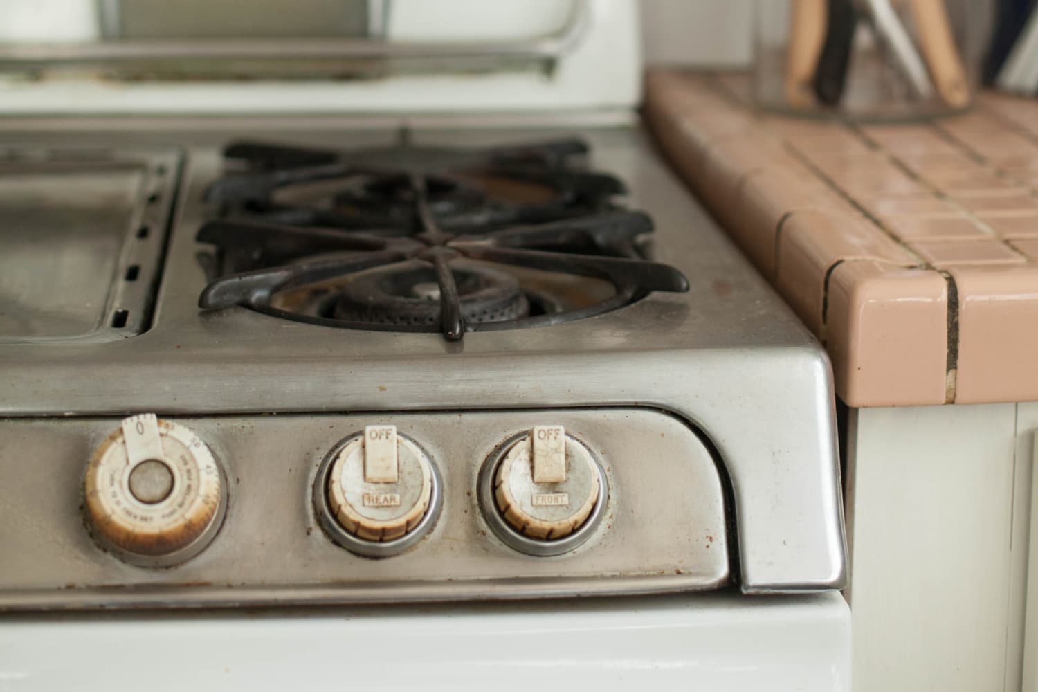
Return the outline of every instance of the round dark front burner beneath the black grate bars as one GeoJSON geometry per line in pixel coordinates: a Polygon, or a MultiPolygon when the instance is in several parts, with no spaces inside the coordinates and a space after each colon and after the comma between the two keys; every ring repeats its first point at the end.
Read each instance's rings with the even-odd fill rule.
{"type": "MultiPolygon", "coordinates": [[[[475,266],[453,271],[466,323],[507,322],[529,314],[529,301],[514,276],[475,266]]],[[[337,293],[331,316],[378,325],[435,325],[440,319],[436,273],[420,265],[367,272],[337,293]]]]}

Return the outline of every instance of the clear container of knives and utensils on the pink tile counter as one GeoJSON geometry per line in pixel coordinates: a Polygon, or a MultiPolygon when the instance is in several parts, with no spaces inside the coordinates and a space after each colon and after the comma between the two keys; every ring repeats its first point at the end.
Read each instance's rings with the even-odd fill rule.
{"type": "Polygon", "coordinates": [[[755,102],[859,121],[962,112],[987,10],[975,0],[756,0],[755,102]]]}

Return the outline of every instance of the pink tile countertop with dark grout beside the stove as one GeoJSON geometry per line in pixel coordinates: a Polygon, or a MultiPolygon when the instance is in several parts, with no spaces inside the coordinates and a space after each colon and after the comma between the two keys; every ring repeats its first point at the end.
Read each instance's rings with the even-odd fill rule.
{"type": "Polygon", "coordinates": [[[825,345],[851,406],[1038,399],[1038,101],[852,126],[651,71],[660,148],[825,345]]]}

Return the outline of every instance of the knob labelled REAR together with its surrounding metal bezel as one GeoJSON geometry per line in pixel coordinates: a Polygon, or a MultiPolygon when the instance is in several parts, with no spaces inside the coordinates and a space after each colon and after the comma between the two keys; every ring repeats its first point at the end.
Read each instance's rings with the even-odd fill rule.
{"type": "Polygon", "coordinates": [[[385,557],[418,541],[440,506],[439,474],[395,425],[367,425],[339,442],[315,482],[315,505],[328,534],[360,555],[385,557]]]}

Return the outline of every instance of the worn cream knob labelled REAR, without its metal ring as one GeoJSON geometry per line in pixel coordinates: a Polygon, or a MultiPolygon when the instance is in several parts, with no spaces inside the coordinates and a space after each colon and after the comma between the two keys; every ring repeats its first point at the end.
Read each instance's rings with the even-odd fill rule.
{"type": "Polygon", "coordinates": [[[433,483],[432,462],[418,445],[397,435],[394,425],[368,425],[335,454],[328,506],[348,533],[393,541],[421,523],[433,483]]]}

